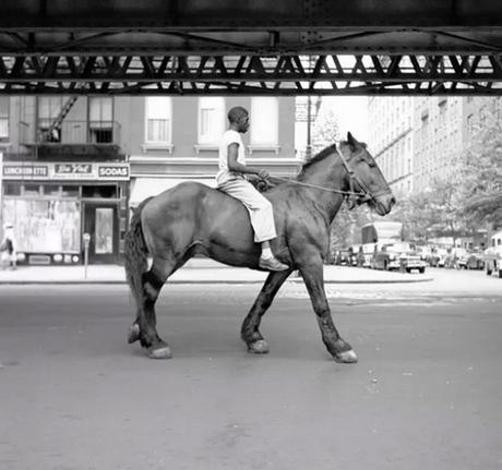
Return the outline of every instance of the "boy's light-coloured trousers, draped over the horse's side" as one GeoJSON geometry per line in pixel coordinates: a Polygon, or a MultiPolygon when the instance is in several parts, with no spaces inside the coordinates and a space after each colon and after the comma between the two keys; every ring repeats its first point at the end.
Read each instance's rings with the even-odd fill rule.
{"type": "Polygon", "coordinates": [[[277,237],[271,202],[243,178],[219,181],[218,189],[239,200],[248,209],[254,230],[254,241],[261,243],[277,237]]]}

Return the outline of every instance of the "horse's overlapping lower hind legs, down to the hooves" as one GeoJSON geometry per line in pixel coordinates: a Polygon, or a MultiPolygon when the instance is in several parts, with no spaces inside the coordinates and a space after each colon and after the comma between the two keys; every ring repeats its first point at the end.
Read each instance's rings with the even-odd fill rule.
{"type": "Polygon", "coordinates": [[[155,257],[150,270],[142,276],[142,296],[138,317],[131,326],[129,342],[139,339],[153,359],[169,359],[169,346],[157,333],[155,302],[167,278],[176,270],[176,262],[155,257]]]}

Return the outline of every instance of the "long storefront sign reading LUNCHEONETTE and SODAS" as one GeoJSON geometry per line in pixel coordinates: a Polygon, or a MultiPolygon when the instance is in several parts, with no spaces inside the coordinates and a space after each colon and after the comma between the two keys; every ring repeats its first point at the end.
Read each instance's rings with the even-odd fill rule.
{"type": "Polygon", "coordinates": [[[3,164],[5,180],[129,180],[129,164],[3,164]]]}

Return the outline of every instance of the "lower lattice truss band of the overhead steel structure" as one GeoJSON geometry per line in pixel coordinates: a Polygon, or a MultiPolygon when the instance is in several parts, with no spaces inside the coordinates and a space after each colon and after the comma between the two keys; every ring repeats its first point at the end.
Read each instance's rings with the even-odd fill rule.
{"type": "Polygon", "coordinates": [[[502,94],[502,55],[19,56],[3,94],[502,94]]]}

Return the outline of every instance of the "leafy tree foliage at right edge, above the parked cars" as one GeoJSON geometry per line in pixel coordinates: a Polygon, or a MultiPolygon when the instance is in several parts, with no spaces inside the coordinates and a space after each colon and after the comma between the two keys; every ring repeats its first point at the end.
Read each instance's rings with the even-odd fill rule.
{"type": "MultiPolygon", "coordinates": [[[[491,101],[497,105],[497,101],[491,101]]],[[[483,107],[470,145],[447,178],[402,198],[393,210],[416,240],[474,232],[502,225],[502,122],[497,106],[483,107]]]]}

